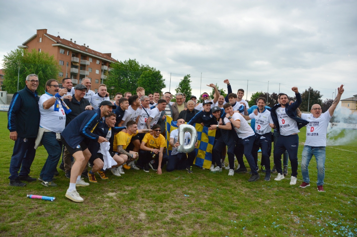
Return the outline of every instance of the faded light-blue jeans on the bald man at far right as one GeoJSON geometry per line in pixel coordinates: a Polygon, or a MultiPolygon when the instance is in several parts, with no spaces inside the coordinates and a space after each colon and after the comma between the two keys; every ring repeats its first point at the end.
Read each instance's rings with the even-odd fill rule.
{"type": "Polygon", "coordinates": [[[323,179],[325,178],[325,159],[326,159],[326,147],[310,147],[304,146],[302,150],[301,159],[301,175],[302,180],[305,183],[310,183],[308,166],[312,155],[315,156],[317,163],[317,185],[323,185],[323,179]]]}

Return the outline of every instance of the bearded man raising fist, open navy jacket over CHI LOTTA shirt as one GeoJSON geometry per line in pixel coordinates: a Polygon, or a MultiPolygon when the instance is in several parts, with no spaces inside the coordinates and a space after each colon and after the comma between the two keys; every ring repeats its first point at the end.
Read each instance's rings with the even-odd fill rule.
{"type": "Polygon", "coordinates": [[[284,179],[283,170],[281,169],[281,155],[287,150],[291,163],[291,180],[290,185],[296,184],[297,177],[297,149],[299,147],[299,136],[297,135],[300,128],[307,125],[308,121],[296,116],[296,109],[301,104],[301,95],[296,86],[291,88],[295,92],[296,101],[289,105],[289,99],[286,94],[280,96],[281,104],[275,105],[271,109],[271,117],[276,126],[277,132],[280,133],[274,151],[274,163],[278,176],[274,180],[284,179]]]}

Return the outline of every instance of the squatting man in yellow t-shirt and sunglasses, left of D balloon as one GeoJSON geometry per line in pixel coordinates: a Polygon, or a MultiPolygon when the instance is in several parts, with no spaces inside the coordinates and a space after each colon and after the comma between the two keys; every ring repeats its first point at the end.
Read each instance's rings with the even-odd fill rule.
{"type": "Polygon", "coordinates": [[[137,165],[145,172],[149,172],[150,165],[152,170],[157,170],[157,174],[162,174],[161,168],[167,162],[167,154],[164,154],[166,139],[160,134],[160,125],[152,126],[152,131],[152,135],[146,133],[142,139],[137,165]],[[153,163],[151,163],[152,160],[154,160],[153,163]]]}

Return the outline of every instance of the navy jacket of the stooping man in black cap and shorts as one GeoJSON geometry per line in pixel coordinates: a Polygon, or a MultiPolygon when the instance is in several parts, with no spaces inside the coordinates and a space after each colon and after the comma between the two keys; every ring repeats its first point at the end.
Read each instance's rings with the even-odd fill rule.
{"type": "Polygon", "coordinates": [[[100,109],[85,110],[75,117],[61,133],[67,144],[76,148],[85,138],[98,141],[99,136],[92,133],[92,130],[102,120],[100,109]]]}

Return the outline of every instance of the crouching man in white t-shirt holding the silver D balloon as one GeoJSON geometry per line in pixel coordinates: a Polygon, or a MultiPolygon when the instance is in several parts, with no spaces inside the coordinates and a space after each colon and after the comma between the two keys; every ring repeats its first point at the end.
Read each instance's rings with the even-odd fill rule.
{"type": "MultiPolygon", "coordinates": [[[[177,127],[180,127],[181,124],[185,124],[185,120],[179,118],[177,120],[177,127]]],[[[185,144],[183,146],[187,146],[191,139],[191,134],[189,132],[185,132],[185,144]]],[[[182,170],[187,169],[189,174],[192,174],[192,165],[193,160],[195,160],[196,152],[195,150],[190,153],[185,152],[177,152],[177,147],[180,146],[180,142],[178,141],[178,129],[170,132],[170,140],[169,144],[172,147],[172,152],[170,154],[169,160],[167,161],[166,171],[171,172],[175,169],[182,170]]],[[[197,142],[195,143],[195,147],[197,147],[197,142]]]]}

